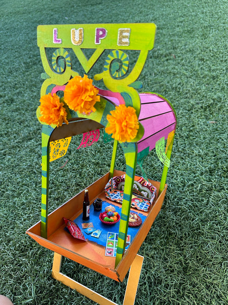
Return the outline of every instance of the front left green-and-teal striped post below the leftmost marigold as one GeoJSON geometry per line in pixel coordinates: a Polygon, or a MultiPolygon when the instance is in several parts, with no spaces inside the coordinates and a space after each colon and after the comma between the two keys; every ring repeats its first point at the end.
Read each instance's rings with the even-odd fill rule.
{"type": "Polygon", "coordinates": [[[48,189],[49,189],[49,139],[53,128],[42,128],[42,195],[41,195],[41,236],[47,238],[48,229],[48,189]]]}

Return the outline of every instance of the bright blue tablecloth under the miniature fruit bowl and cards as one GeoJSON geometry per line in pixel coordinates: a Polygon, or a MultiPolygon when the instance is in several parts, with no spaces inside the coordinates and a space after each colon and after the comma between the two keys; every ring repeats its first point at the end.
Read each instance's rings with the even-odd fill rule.
{"type": "MultiPolygon", "coordinates": [[[[109,202],[103,201],[102,203],[102,211],[104,211],[105,207],[110,205],[109,202]]],[[[115,205],[116,211],[121,215],[121,207],[118,207],[115,205]]],[[[131,210],[132,212],[138,214],[140,216],[140,218],[142,219],[142,223],[144,222],[144,220],[146,219],[146,217],[144,215],[142,215],[141,213],[138,213],[137,210],[131,210]]],[[[107,240],[107,232],[113,232],[113,233],[118,233],[119,232],[119,226],[120,226],[120,221],[114,225],[105,225],[103,224],[100,220],[99,220],[99,215],[101,212],[96,212],[94,211],[93,205],[90,205],[90,219],[88,221],[84,221],[82,219],[83,214],[81,214],[79,217],[77,217],[76,219],[74,219],[74,222],[80,227],[80,229],[82,230],[84,236],[86,239],[97,242],[98,245],[102,245],[102,246],[106,246],[106,240],[107,240]],[[87,234],[86,232],[84,232],[84,230],[82,229],[82,223],[93,223],[93,226],[95,229],[100,229],[101,230],[101,234],[99,238],[93,237],[91,236],[91,234],[87,234]]],[[[132,227],[128,227],[128,234],[131,235],[131,242],[133,241],[135,235],[138,232],[138,229],[140,227],[137,228],[132,228],[132,227]]]]}

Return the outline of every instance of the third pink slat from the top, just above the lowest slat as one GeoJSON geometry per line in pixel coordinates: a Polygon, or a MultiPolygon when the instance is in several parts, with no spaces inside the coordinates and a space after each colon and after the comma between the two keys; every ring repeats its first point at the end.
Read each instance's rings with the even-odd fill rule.
{"type": "Polygon", "coordinates": [[[173,112],[164,113],[158,116],[150,117],[140,121],[144,127],[144,135],[141,140],[159,132],[167,126],[176,123],[173,112]]]}

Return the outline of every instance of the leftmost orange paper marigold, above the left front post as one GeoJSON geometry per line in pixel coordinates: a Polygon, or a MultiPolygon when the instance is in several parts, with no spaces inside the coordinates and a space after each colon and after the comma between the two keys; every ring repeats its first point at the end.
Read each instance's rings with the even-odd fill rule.
{"type": "Polygon", "coordinates": [[[51,93],[42,96],[40,99],[41,105],[39,106],[41,110],[40,120],[48,125],[57,125],[62,126],[62,123],[65,122],[68,124],[66,119],[67,112],[64,108],[64,104],[60,103],[59,97],[54,93],[51,93]]]}

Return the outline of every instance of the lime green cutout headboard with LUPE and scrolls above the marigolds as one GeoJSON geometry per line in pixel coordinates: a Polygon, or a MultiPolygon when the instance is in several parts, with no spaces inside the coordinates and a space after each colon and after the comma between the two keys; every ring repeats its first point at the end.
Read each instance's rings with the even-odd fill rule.
{"type": "MultiPolygon", "coordinates": [[[[65,85],[70,78],[79,75],[72,67],[70,54],[74,53],[85,73],[88,73],[105,50],[110,50],[103,71],[92,78],[103,80],[106,88],[113,93],[121,93],[127,106],[140,112],[140,98],[136,83],[148,54],[153,49],[156,25],[154,23],[117,24],[59,24],[39,25],[37,44],[40,47],[45,74],[41,96],[48,94],[55,86],[65,85]],[[57,49],[52,62],[48,60],[48,48],[57,49]],[[84,49],[95,49],[90,58],[84,49]],[[123,50],[123,51],[122,51],[123,50]],[[139,51],[132,70],[128,71],[128,50],[139,51]]],[[[83,76],[83,75],[81,75],[83,76]]]]}

